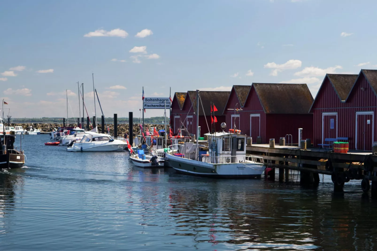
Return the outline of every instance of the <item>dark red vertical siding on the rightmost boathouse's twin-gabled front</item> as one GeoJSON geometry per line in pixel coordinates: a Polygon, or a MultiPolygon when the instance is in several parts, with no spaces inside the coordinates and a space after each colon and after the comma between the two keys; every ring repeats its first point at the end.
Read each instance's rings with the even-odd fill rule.
{"type": "MultiPolygon", "coordinates": [[[[338,137],[348,137],[349,149],[356,149],[356,112],[374,112],[374,119],[371,119],[370,126],[374,128],[373,138],[370,135],[370,130],[366,131],[368,140],[366,141],[366,150],[371,150],[372,142],[377,141],[376,138],[376,113],[377,113],[377,98],[369,83],[366,81],[363,73],[360,73],[355,86],[351,90],[349,98],[346,102],[341,102],[337,96],[333,86],[326,77],[323,86],[314,101],[312,111],[314,113],[313,121],[313,143],[315,145],[322,142],[322,114],[325,112],[337,112],[337,128],[338,137]]],[[[327,116],[326,116],[327,117],[327,116]]],[[[358,116],[368,120],[366,117],[358,116]]],[[[328,138],[325,132],[328,131],[326,127],[329,126],[329,121],[324,122],[324,138],[328,138]]],[[[336,125],[335,125],[336,126],[336,125]]],[[[359,127],[359,126],[358,126],[359,127]]],[[[358,133],[361,130],[358,128],[358,133]]],[[[361,135],[358,134],[358,139],[361,135]]],[[[363,137],[362,137],[363,138],[363,137]]],[[[363,142],[357,142],[358,145],[364,145],[363,142]]],[[[358,150],[363,150],[357,147],[358,150]]]]}

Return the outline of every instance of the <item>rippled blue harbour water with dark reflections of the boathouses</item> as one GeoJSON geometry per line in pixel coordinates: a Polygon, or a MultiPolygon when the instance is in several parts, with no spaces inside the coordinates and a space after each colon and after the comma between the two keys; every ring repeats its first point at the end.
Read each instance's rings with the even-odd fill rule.
{"type": "MultiPolygon", "coordinates": [[[[0,250],[377,250],[377,203],[262,180],[144,170],[128,153],[71,153],[26,135],[0,173],[0,250]]],[[[17,137],[17,140],[19,137],[17,137]]]]}

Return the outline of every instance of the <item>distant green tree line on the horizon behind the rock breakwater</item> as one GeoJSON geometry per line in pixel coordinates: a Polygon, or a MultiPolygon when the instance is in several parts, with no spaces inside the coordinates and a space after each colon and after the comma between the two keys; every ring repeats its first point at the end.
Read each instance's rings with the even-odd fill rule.
{"type": "MultiPolygon", "coordinates": [[[[90,121],[92,121],[93,118],[90,118],[90,121]]],[[[114,118],[105,118],[106,123],[113,123],[114,118]]],[[[5,122],[7,119],[5,119],[5,122]]],[[[74,123],[77,121],[77,118],[69,118],[69,123],[74,123]]],[[[98,124],[101,123],[101,117],[97,118],[98,124]]],[[[167,117],[166,122],[169,123],[170,119],[167,117]]],[[[85,118],[86,122],[86,118],[85,118]]],[[[92,121],[93,122],[93,121],[92,121]]],[[[133,118],[134,123],[140,122],[140,119],[138,117],[133,118]]],[[[63,123],[63,118],[11,118],[11,123],[63,123]]],[[[118,118],[118,123],[128,123],[128,118],[118,118]]],[[[144,123],[148,124],[161,124],[165,123],[164,117],[152,117],[152,118],[144,118],[144,123]]]]}

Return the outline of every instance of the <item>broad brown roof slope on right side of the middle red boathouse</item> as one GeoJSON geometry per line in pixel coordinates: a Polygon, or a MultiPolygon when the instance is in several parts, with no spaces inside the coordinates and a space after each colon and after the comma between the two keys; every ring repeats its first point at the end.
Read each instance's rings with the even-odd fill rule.
{"type": "Polygon", "coordinates": [[[305,114],[313,103],[307,84],[253,83],[253,86],[265,113],[305,114]]]}

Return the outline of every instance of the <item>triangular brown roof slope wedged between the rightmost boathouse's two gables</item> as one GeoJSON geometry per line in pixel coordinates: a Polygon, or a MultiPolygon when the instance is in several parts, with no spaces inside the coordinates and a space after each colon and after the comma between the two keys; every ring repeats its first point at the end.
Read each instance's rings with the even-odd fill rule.
{"type": "Polygon", "coordinates": [[[327,77],[334,86],[339,98],[345,101],[351,91],[358,75],[354,74],[327,74],[327,77]]]}

